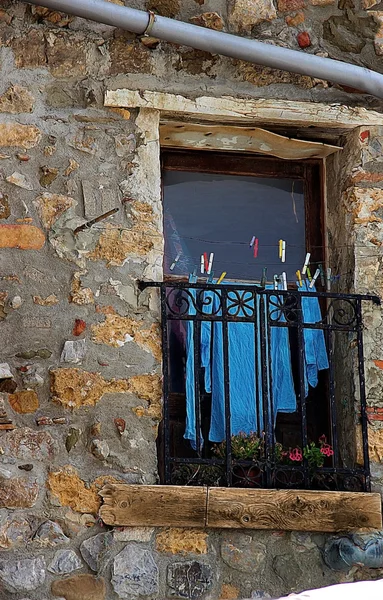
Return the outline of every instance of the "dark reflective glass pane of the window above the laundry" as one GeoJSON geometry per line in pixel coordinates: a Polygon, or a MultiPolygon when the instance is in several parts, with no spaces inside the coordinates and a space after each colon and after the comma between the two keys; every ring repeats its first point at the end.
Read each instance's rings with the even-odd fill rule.
{"type": "Polygon", "coordinates": [[[295,280],[306,252],[302,180],[165,170],[163,182],[165,274],[200,274],[201,254],[214,252],[216,277],[226,271],[227,279],[254,281],[267,267],[268,280],[282,271],[295,280]],[[249,247],[253,236],[257,258],[249,247]]]}

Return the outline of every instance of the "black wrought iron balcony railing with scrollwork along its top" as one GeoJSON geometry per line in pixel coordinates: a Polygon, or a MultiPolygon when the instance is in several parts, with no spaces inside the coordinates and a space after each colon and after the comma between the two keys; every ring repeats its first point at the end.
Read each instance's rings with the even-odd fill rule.
{"type": "MultiPolygon", "coordinates": [[[[379,303],[377,297],[306,289],[275,291],[239,283],[217,286],[142,282],[140,285],[142,289],[157,286],[161,294],[164,410],[160,471],[163,483],[370,490],[362,303],[379,303]],[[320,310],[316,322],[308,322],[305,317],[304,303],[308,298],[311,303],[316,299],[314,302],[320,310]],[[209,440],[206,426],[211,421],[212,405],[201,366],[201,332],[206,323],[211,344],[214,336],[217,343],[219,333],[223,369],[224,436],[215,443],[209,440]],[[232,438],[230,336],[235,330],[232,323],[247,323],[254,334],[254,365],[250,368],[254,369],[253,410],[257,431],[253,433],[253,441],[258,440],[259,445],[253,456],[246,452],[238,454],[240,436],[232,438]],[[275,429],[273,393],[277,382],[273,382],[276,358],[272,357],[272,336],[279,328],[288,332],[286,360],[291,361],[296,394],[293,419],[298,427],[294,430],[295,438],[290,436],[293,440],[290,447],[278,441],[278,435],[287,435],[289,439],[289,425],[279,428],[279,433],[278,427],[275,429]],[[314,333],[310,337],[307,332],[314,333]],[[317,389],[312,388],[307,393],[307,345],[313,340],[315,344],[318,339],[325,346],[328,368],[319,373],[317,389]],[[174,340],[178,340],[176,344],[174,340]],[[175,373],[175,363],[181,365],[181,377],[175,373]],[[175,384],[177,377],[178,384],[175,384]],[[189,380],[192,407],[190,398],[186,406],[187,394],[182,387],[187,377],[192,378],[189,380]],[[183,405],[182,410],[177,409],[177,403],[183,405]],[[178,429],[172,420],[174,410],[178,415],[178,429]],[[195,422],[194,449],[189,442],[182,441],[187,410],[192,410],[195,422]],[[322,446],[317,444],[310,454],[307,450],[317,443],[319,434],[326,440],[322,437],[322,446]],[[321,448],[327,450],[322,456],[321,448]]],[[[211,362],[216,359],[214,355],[210,358],[211,362]]]]}

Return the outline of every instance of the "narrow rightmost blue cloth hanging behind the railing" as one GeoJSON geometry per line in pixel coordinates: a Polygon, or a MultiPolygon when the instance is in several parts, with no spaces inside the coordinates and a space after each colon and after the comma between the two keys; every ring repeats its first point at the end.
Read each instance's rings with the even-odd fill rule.
{"type": "MultiPolygon", "coordinates": [[[[315,287],[309,287],[307,281],[301,291],[315,292],[315,287]]],[[[318,298],[302,296],[302,314],[304,323],[319,323],[322,320],[318,298]]],[[[318,385],[318,371],[329,368],[326,343],[322,329],[303,329],[305,345],[305,396],[309,392],[309,386],[318,385]]]]}

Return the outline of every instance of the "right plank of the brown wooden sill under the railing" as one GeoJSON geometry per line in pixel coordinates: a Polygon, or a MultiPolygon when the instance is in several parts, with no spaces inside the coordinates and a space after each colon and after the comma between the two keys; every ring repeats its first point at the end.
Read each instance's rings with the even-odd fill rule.
{"type": "Polygon", "coordinates": [[[380,494],[210,488],[208,527],[347,531],[382,527],[380,494]]]}

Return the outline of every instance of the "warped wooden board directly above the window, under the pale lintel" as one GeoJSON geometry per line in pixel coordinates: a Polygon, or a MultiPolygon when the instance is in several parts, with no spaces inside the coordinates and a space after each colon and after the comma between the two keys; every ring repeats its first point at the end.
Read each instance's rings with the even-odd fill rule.
{"type": "Polygon", "coordinates": [[[163,148],[254,152],[287,160],[326,158],[342,150],[339,146],[296,140],[259,127],[201,125],[177,121],[160,124],[160,144],[163,148]]]}

